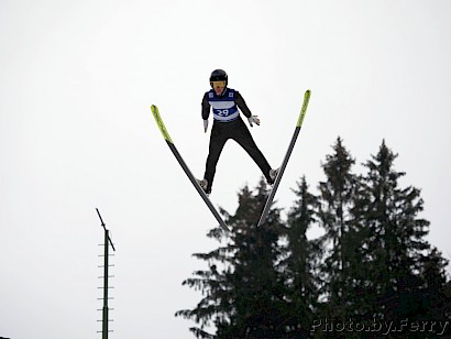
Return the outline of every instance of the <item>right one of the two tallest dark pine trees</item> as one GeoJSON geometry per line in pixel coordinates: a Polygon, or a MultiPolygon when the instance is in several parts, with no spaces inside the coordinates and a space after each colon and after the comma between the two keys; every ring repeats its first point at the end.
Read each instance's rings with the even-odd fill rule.
{"type": "Polygon", "coordinates": [[[421,314],[418,298],[425,280],[425,253],[430,244],[425,237],[429,221],[418,218],[424,209],[419,189],[399,188],[405,175],[396,172],[394,154],[383,141],[376,156],[366,162],[367,211],[364,223],[369,231],[365,248],[370,260],[371,285],[374,296],[371,316],[380,319],[416,319],[421,314]]]}

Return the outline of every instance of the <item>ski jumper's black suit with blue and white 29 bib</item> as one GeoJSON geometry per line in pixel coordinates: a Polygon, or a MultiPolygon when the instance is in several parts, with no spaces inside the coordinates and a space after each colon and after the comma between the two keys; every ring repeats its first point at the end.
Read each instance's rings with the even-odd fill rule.
{"type": "Polygon", "coordinates": [[[266,179],[272,183],[273,181],[270,176],[271,166],[255,144],[243,119],[240,117],[239,109],[246,118],[252,116],[240,92],[231,88],[226,88],[223,94],[218,96],[215,90],[210,89],[204,95],[202,99],[204,120],[208,119],[210,108],[212,108],[213,112],[213,127],[211,129],[209,153],[204,175],[204,178],[208,182],[206,192],[211,192],[216,166],[222,149],[229,139],[237,141],[248,152],[266,179]]]}

